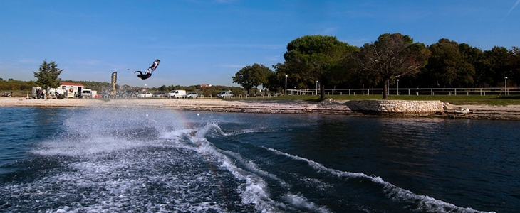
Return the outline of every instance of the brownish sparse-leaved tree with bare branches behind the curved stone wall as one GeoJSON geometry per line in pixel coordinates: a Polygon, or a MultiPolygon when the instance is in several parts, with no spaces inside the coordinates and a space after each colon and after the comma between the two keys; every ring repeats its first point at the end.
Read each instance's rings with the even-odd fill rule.
{"type": "Polygon", "coordinates": [[[374,43],[365,43],[356,60],[360,74],[370,75],[373,83],[383,81],[383,99],[388,99],[388,82],[427,64],[430,51],[422,43],[413,43],[408,35],[385,33],[374,43]]]}

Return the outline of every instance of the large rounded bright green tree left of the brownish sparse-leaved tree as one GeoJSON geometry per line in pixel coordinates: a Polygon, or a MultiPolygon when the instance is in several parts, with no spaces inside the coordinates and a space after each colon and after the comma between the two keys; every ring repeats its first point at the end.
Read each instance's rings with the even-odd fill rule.
{"type": "MultiPolygon", "coordinates": [[[[345,79],[343,62],[357,50],[328,35],[306,35],[292,40],[284,54],[291,79],[300,78],[307,86],[320,83],[320,99],[325,99],[325,88],[345,79]]],[[[288,75],[289,75],[288,74],[288,75]]]]}

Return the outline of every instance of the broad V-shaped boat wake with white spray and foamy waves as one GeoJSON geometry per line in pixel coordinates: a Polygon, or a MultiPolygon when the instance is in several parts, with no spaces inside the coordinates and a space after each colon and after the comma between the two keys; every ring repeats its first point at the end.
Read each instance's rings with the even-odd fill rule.
{"type": "Polygon", "coordinates": [[[2,176],[0,210],[478,212],[242,139],[273,129],[129,114],[72,114],[33,158],[16,163],[23,169],[2,176]]]}

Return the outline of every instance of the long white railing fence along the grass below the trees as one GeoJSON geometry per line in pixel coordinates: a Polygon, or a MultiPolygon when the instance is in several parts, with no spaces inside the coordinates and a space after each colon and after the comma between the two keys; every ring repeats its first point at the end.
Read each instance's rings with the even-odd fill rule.
{"type": "MultiPolygon", "coordinates": [[[[520,94],[519,87],[486,87],[486,88],[390,88],[389,94],[393,95],[509,95],[520,94]]],[[[287,89],[287,93],[291,95],[318,95],[320,89],[287,89]]],[[[363,94],[380,94],[383,95],[382,88],[374,89],[325,89],[326,95],[363,95],[363,94]]]]}

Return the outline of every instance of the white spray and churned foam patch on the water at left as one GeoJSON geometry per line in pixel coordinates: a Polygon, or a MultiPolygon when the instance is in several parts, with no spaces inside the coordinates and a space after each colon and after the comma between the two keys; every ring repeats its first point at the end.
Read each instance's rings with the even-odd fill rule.
{"type": "MultiPolygon", "coordinates": [[[[31,202],[28,207],[38,207],[38,202],[55,206],[48,212],[226,212],[225,204],[212,202],[213,190],[219,187],[214,173],[199,168],[199,156],[191,156],[194,147],[187,146],[187,136],[194,129],[184,129],[175,122],[165,128],[170,123],[160,122],[157,126],[152,124],[158,136],[126,138],[122,134],[135,128],[133,122],[142,118],[121,120],[103,111],[95,112],[101,114],[94,114],[95,119],[92,113],[68,119],[60,136],[42,141],[31,151],[45,157],[73,157],[71,160],[45,158],[66,160],[60,160],[56,168],[44,170],[45,175],[31,182],[0,187],[2,199],[9,197],[19,204],[31,202]],[[150,187],[157,186],[167,190],[148,194],[150,187]],[[63,205],[62,200],[70,203],[63,205]]],[[[152,118],[155,119],[153,113],[149,116],[152,118]]],[[[203,141],[203,135],[215,127],[219,131],[216,124],[205,126],[199,140],[203,141]]]]}

